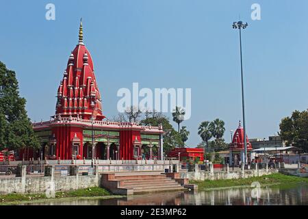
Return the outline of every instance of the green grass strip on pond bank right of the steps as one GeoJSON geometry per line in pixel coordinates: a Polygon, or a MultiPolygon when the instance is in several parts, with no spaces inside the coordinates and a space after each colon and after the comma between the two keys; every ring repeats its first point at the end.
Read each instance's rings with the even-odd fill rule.
{"type": "Polygon", "coordinates": [[[275,185],[275,186],[294,186],[299,183],[307,183],[308,178],[287,176],[281,173],[274,173],[272,175],[262,177],[251,177],[247,179],[221,179],[221,180],[205,180],[205,181],[190,181],[192,184],[198,185],[198,189],[214,189],[223,187],[235,186],[250,186],[254,181],[258,181],[262,185],[275,185]]]}

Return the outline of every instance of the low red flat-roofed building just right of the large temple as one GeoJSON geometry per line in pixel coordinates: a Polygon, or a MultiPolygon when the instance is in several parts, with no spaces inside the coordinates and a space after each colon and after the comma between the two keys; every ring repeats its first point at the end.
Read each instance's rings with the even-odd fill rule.
{"type": "Polygon", "coordinates": [[[195,161],[198,159],[200,162],[204,161],[204,150],[198,148],[180,148],[173,149],[168,153],[168,157],[179,159],[183,161],[195,161]]]}

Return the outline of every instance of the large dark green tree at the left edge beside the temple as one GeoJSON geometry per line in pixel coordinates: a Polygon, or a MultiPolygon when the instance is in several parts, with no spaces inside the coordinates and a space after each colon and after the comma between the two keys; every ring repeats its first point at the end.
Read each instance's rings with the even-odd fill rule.
{"type": "Polygon", "coordinates": [[[40,146],[18,89],[15,72],[0,62],[0,149],[40,146]]]}

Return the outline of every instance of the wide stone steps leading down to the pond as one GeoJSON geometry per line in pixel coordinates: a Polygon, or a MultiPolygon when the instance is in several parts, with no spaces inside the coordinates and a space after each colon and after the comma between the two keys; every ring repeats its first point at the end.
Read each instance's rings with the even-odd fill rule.
{"type": "Polygon", "coordinates": [[[144,194],[184,190],[188,179],[176,173],[117,172],[102,175],[101,185],[114,194],[144,194]]]}

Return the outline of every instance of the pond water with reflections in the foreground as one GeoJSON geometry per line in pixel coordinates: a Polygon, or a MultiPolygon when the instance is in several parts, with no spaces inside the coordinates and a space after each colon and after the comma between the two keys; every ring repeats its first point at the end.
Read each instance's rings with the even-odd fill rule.
{"type": "Polygon", "coordinates": [[[48,201],[35,205],[308,205],[308,187],[234,188],[197,192],[165,192],[112,199],[48,201]]]}

